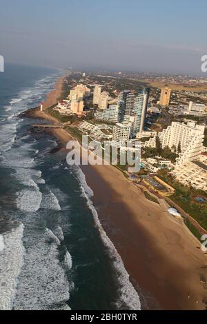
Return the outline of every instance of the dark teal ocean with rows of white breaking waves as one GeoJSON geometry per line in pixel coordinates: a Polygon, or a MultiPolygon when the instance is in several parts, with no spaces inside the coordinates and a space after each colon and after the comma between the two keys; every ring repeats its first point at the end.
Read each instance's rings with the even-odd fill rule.
{"type": "Polygon", "coordinates": [[[37,122],[63,70],[0,73],[0,310],[139,310],[139,296],[99,223],[78,166],[37,122]]]}

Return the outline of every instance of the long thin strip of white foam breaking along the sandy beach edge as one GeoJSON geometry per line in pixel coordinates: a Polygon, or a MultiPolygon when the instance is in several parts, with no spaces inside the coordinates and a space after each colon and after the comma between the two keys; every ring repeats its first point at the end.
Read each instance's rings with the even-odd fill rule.
{"type": "Polygon", "coordinates": [[[117,280],[119,281],[119,299],[117,299],[116,301],[116,307],[118,310],[121,310],[121,308],[123,307],[127,307],[128,310],[141,310],[139,296],[132,283],[130,283],[129,274],[124,267],[121,256],[119,256],[115,245],[112,244],[112,242],[106,235],[106,232],[104,232],[103,227],[101,226],[97,211],[95,210],[95,207],[90,199],[93,196],[93,192],[91,188],[88,187],[86,183],[86,176],[85,174],[83,174],[81,168],[77,169],[77,176],[81,183],[83,195],[87,199],[88,207],[90,207],[90,210],[92,211],[95,219],[95,223],[99,228],[99,233],[103,244],[108,248],[110,259],[112,260],[113,267],[115,269],[115,272],[117,273],[117,280]]]}

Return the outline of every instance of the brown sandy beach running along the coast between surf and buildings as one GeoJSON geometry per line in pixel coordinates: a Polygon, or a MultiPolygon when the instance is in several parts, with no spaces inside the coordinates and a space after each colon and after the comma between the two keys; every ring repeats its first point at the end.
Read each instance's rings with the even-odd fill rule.
{"type": "MultiPolygon", "coordinates": [[[[48,94],[44,110],[48,103],[53,105],[57,101],[64,78],[57,81],[57,89],[50,92],[51,98],[48,94]]],[[[28,115],[57,122],[37,108],[28,115]]],[[[72,137],[66,130],[56,129],[51,133],[62,144],[72,137]]],[[[94,192],[91,200],[103,230],[124,261],[134,287],[139,285],[144,292],[148,308],[204,310],[206,305],[202,300],[207,301],[207,296],[199,274],[207,276],[207,259],[197,249],[196,241],[169,218],[164,206],[148,201],[112,165],[82,165],[81,170],[94,192]]]]}

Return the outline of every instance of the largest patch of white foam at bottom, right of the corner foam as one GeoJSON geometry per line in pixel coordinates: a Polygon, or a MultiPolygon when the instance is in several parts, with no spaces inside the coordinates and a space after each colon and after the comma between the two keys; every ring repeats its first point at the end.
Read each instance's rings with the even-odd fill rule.
{"type": "MultiPolygon", "coordinates": [[[[28,219],[30,222],[30,219],[28,219]]],[[[59,241],[51,230],[28,232],[14,310],[70,310],[66,272],[59,263],[59,241]],[[50,242],[48,241],[50,238],[50,242]]]]}

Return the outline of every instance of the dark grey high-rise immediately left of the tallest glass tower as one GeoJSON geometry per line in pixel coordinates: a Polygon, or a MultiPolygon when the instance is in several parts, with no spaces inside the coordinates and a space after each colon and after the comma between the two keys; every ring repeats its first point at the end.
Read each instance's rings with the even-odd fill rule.
{"type": "Polygon", "coordinates": [[[124,90],[119,94],[119,121],[124,121],[124,115],[130,115],[134,107],[135,95],[130,90],[124,90]]]}

